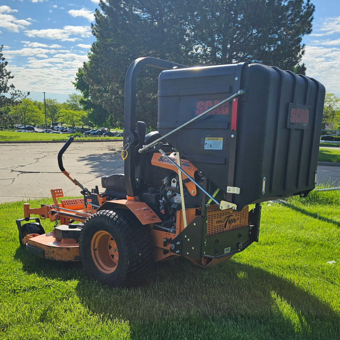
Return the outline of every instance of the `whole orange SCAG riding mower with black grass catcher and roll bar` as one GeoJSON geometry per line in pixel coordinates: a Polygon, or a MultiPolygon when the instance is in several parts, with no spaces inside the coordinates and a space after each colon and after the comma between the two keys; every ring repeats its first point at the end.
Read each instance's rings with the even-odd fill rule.
{"type": "Polygon", "coordinates": [[[154,261],[184,256],[208,267],[258,241],[260,203],[306,196],[316,182],[325,89],[314,79],[259,62],[189,68],[151,57],[125,81],[124,174],[102,190],[72,179],[83,198],[31,208],[17,220],[29,253],[82,261],[102,284],[128,287],[154,261]],[[157,130],[136,122],[140,68],[160,69],[157,130]],[[45,233],[40,219],[54,222],[45,233]]]}

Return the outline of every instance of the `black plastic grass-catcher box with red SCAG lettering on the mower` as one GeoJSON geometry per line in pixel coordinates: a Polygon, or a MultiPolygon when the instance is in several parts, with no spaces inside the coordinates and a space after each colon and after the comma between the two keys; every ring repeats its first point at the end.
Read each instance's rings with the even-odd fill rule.
{"type": "Polygon", "coordinates": [[[315,187],[325,89],[303,75],[259,63],[161,72],[158,131],[241,210],[315,187]],[[236,189],[238,188],[238,189],[236,189]],[[236,193],[238,192],[238,193],[236,193]]]}

